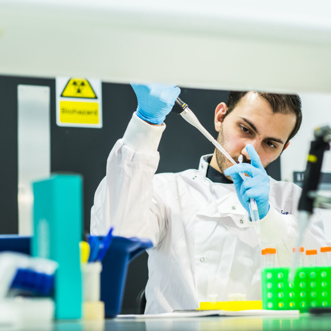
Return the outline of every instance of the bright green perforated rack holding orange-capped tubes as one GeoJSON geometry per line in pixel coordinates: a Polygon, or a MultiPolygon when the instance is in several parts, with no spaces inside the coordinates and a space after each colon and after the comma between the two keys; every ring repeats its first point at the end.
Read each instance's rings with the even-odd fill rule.
{"type": "Polygon", "coordinates": [[[264,268],[261,274],[263,309],[331,307],[331,267],[297,268],[293,282],[290,268],[264,268]]]}

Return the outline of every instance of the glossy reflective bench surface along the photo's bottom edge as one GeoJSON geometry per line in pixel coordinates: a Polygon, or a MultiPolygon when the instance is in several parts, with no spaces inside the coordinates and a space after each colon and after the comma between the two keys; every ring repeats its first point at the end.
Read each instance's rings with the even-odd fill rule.
{"type": "MultiPolygon", "coordinates": [[[[0,330],[2,330],[0,326],[0,330]]],[[[274,317],[195,317],[123,319],[105,321],[57,321],[51,325],[25,325],[6,330],[33,331],[265,331],[265,330],[331,330],[331,315],[301,314],[298,318],[274,317]]]]}

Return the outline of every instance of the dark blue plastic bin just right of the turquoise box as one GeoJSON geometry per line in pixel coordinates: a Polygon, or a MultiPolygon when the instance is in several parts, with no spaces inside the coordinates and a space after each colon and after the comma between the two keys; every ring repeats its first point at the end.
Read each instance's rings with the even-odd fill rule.
{"type": "Polygon", "coordinates": [[[115,317],[122,308],[122,300],[129,262],[145,249],[153,247],[148,239],[114,236],[102,261],[101,300],[106,317],[115,317]]]}

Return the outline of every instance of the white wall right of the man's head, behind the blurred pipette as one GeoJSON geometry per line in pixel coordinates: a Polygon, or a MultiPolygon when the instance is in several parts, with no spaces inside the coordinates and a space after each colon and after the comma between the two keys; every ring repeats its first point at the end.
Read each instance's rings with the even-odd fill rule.
{"type": "MultiPolygon", "coordinates": [[[[281,178],[293,181],[293,171],[304,171],[307,164],[310,141],[318,126],[331,126],[331,94],[299,93],[302,100],[302,124],[298,134],[281,156],[281,178]]],[[[331,172],[331,151],[326,151],[323,172],[331,172]]],[[[322,211],[327,238],[331,241],[331,210],[322,211]]]]}

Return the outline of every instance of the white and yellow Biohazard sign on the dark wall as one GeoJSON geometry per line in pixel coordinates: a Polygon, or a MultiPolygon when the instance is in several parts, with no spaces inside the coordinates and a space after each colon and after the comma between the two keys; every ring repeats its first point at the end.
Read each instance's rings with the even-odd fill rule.
{"type": "Polygon", "coordinates": [[[57,77],[56,108],[56,123],[59,126],[101,128],[101,81],[83,77],[57,77]]]}

